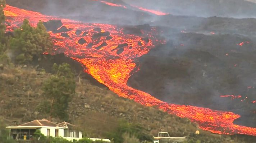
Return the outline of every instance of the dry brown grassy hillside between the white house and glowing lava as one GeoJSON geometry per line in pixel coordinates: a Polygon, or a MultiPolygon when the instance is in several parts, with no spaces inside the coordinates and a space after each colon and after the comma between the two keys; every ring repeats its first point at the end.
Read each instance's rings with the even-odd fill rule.
{"type": "MultiPolygon", "coordinates": [[[[73,62],[68,59],[66,61],[73,62]]],[[[37,66],[5,66],[4,70],[0,71],[0,117],[6,124],[17,125],[34,119],[47,118],[45,114],[38,112],[38,104],[44,99],[41,85],[51,75],[46,72],[48,64],[51,62],[44,61],[37,66]],[[45,66],[46,71],[42,70],[42,65],[45,66]]],[[[73,68],[76,69],[76,67],[73,68]]],[[[198,129],[197,125],[188,119],[118,97],[103,85],[92,84],[93,81],[84,78],[86,75],[78,74],[78,71],[76,71],[76,95],[69,103],[67,112],[69,122],[77,124],[87,137],[106,138],[109,132],[116,130],[120,120],[139,123],[150,135],[157,135],[159,131],[168,131],[172,136],[183,137],[198,129]]],[[[61,121],[60,119],[52,120],[61,121]]],[[[211,142],[215,140],[214,143],[220,140],[235,143],[244,138],[228,135],[222,135],[219,138],[203,130],[200,132],[200,136],[192,136],[192,138],[211,142]]]]}

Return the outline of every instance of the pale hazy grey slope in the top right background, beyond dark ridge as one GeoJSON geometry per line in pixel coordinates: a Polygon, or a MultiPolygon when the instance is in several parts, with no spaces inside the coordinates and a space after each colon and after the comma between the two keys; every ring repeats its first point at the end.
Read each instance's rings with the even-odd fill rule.
{"type": "Polygon", "coordinates": [[[124,0],[126,3],[161,10],[173,15],[256,17],[256,4],[244,0],[124,0]]]}

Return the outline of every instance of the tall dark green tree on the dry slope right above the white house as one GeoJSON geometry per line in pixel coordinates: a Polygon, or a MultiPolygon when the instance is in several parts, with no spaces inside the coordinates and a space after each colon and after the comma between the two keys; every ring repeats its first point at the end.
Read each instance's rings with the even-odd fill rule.
{"type": "Polygon", "coordinates": [[[70,65],[66,63],[61,65],[54,64],[52,70],[54,75],[42,85],[42,90],[47,98],[43,103],[48,105],[41,105],[43,107],[41,108],[41,112],[46,111],[50,118],[58,117],[67,120],[68,102],[72,95],[74,95],[76,89],[74,74],[70,69],[70,65]],[[48,108],[46,109],[44,107],[48,108]]]}

